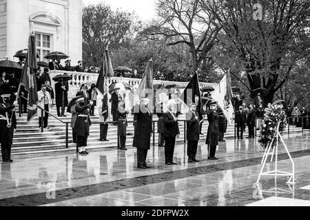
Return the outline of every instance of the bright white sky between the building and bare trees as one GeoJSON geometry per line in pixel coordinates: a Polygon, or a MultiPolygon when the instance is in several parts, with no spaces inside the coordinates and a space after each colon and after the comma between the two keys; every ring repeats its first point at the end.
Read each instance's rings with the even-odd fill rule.
{"type": "Polygon", "coordinates": [[[104,2],[110,5],[112,10],[117,8],[125,11],[135,11],[143,21],[149,21],[156,16],[155,0],[83,0],[83,5],[104,2]]]}

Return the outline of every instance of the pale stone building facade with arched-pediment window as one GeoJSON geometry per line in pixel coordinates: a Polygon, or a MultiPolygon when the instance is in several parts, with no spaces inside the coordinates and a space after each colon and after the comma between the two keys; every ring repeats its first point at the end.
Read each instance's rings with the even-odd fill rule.
{"type": "Polygon", "coordinates": [[[40,61],[59,51],[77,65],[82,59],[82,0],[0,0],[0,59],[17,61],[13,56],[28,47],[30,32],[36,35],[40,61]]]}

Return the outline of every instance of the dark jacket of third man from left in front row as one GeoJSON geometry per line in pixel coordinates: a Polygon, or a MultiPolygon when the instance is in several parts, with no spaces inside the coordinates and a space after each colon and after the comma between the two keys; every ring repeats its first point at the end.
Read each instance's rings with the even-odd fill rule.
{"type": "Polygon", "coordinates": [[[199,140],[199,116],[198,120],[196,120],[196,116],[198,116],[198,113],[196,115],[194,114],[193,111],[188,111],[186,113],[186,124],[187,124],[187,131],[186,131],[186,136],[187,140],[199,140]]]}

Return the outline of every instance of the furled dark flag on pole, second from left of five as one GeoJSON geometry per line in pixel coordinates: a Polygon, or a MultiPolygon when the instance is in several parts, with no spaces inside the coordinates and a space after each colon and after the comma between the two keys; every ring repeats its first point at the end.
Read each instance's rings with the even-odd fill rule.
{"type": "Polygon", "coordinates": [[[96,83],[96,88],[99,90],[99,92],[103,95],[103,109],[106,109],[107,111],[107,117],[105,117],[105,122],[108,122],[110,120],[110,112],[111,112],[111,106],[110,106],[110,98],[109,98],[109,81],[108,79],[114,76],[113,72],[113,66],[109,54],[109,50],[105,50],[105,53],[103,54],[103,63],[99,72],[99,77],[96,83]]]}

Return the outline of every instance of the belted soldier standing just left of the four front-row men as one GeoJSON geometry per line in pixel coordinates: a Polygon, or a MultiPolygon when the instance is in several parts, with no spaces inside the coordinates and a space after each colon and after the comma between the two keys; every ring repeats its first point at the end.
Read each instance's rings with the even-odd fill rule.
{"type": "Polygon", "coordinates": [[[117,109],[117,148],[122,151],[127,151],[126,148],[126,135],[127,135],[127,114],[129,112],[125,111],[125,102],[121,100],[118,102],[117,109]]]}

